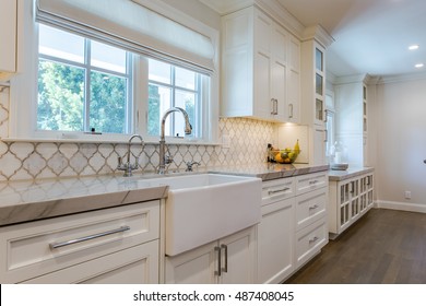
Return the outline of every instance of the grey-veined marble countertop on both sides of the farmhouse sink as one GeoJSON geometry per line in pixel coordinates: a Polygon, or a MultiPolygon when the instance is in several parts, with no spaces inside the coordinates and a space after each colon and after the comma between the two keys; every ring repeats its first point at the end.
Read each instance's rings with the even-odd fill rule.
{"type": "MultiPolygon", "coordinates": [[[[327,170],[328,165],[252,164],[205,167],[187,175],[220,173],[255,176],[262,180],[327,170]]],[[[105,209],[167,197],[168,186],[155,186],[154,174],[119,175],[0,181],[0,226],[71,213],[105,209]]]]}

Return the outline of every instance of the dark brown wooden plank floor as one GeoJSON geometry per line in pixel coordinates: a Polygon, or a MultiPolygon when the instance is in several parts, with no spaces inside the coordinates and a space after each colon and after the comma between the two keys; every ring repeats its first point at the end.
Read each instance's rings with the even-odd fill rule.
{"type": "Polygon", "coordinates": [[[426,214],[372,209],[285,283],[426,284],[426,214]]]}

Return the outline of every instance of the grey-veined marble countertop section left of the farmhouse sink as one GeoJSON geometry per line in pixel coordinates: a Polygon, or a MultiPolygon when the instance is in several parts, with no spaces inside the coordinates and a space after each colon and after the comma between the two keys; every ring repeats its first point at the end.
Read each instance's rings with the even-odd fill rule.
{"type": "Polygon", "coordinates": [[[135,177],[75,177],[0,183],[0,226],[165,198],[168,186],[135,177]]]}

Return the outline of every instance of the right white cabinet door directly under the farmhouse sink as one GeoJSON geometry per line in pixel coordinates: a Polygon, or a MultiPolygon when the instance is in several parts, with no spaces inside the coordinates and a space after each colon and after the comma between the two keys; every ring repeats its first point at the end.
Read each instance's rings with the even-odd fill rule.
{"type": "Polygon", "coordinates": [[[220,240],[224,284],[252,284],[256,271],[256,231],[250,227],[220,240]]]}

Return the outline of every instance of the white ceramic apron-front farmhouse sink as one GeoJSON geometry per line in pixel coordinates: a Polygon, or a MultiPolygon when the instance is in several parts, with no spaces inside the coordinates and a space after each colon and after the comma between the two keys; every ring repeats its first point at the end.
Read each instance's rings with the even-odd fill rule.
{"type": "Polygon", "coordinates": [[[260,222],[260,178],[196,174],[149,181],[169,186],[166,199],[166,254],[169,256],[260,222]]]}

